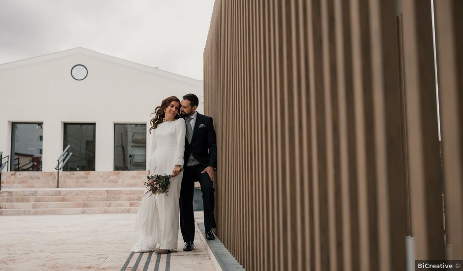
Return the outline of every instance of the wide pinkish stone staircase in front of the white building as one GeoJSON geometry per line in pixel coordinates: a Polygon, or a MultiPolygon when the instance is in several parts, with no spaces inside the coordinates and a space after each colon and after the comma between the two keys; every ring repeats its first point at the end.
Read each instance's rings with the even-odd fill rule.
{"type": "Polygon", "coordinates": [[[0,215],[136,213],[146,171],[2,172],[0,215]]]}

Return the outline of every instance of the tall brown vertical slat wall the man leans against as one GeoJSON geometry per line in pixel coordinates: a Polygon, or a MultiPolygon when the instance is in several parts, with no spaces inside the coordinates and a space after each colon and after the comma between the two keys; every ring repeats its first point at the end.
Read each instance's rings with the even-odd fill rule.
{"type": "MultiPolygon", "coordinates": [[[[247,270],[405,270],[407,228],[417,259],[445,257],[430,1],[401,4],[398,47],[395,1],[215,1],[204,106],[217,235],[247,270]]],[[[448,239],[461,257],[461,1],[436,11],[448,239]]]]}

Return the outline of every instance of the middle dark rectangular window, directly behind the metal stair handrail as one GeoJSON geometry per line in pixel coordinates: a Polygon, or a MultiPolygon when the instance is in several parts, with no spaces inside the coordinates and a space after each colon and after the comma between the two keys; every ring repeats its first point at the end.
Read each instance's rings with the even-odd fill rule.
{"type": "Polygon", "coordinates": [[[95,124],[94,123],[65,123],[63,149],[70,145],[72,152],[67,171],[95,171],[95,124]]]}

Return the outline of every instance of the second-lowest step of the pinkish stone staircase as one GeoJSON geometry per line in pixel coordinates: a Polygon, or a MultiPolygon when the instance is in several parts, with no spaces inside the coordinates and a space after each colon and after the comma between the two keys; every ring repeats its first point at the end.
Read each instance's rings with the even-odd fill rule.
{"type": "Polygon", "coordinates": [[[140,201],[0,203],[0,209],[138,207],[140,201]]]}

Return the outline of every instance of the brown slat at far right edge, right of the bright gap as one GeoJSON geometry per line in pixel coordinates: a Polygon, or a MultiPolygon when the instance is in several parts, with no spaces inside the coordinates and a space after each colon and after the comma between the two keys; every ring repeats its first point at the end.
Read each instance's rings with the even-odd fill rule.
{"type": "Polygon", "coordinates": [[[446,240],[452,260],[463,259],[463,4],[435,1],[446,240]]]}

